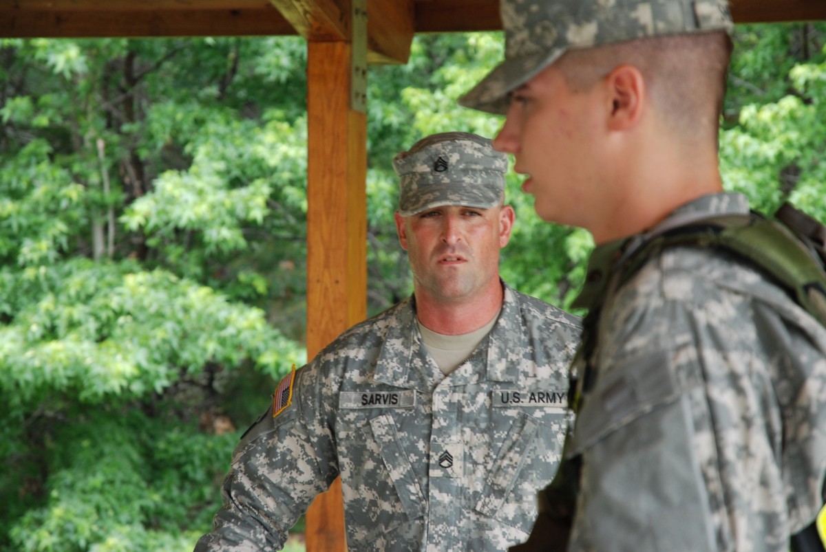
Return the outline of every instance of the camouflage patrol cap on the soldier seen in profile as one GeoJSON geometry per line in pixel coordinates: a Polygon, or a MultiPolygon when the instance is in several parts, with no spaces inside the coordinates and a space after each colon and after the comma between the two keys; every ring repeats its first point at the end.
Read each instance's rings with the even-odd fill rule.
{"type": "Polygon", "coordinates": [[[505,61],[458,101],[498,114],[567,50],[733,28],[728,0],[501,0],[500,12],[505,61]]]}

